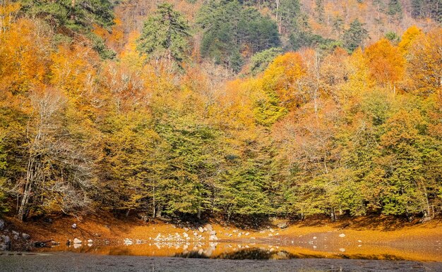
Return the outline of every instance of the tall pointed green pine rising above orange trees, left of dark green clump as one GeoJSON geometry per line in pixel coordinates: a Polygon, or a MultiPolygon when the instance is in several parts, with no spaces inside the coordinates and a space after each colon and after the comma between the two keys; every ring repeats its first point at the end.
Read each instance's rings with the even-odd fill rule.
{"type": "Polygon", "coordinates": [[[150,58],[167,58],[181,63],[189,53],[189,25],[171,4],[160,4],[145,20],[137,49],[150,58]]]}

